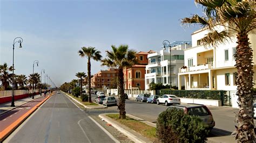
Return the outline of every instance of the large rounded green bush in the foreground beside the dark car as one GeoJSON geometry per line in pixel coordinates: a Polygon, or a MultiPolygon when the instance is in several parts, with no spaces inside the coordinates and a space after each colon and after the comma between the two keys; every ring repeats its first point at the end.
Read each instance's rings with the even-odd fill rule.
{"type": "Polygon", "coordinates": [[[205,142],[209,132],[200,118],[176,108],[161,112],[157,119],[157,138],[161,142],[205,142]]]}

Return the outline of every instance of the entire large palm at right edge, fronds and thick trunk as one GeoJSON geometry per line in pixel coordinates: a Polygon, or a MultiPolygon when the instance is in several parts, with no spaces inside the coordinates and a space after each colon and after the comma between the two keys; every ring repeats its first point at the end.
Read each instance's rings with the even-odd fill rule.
{"type": "MultiPolygon", "coordinates": [[[[208,28],[208,33],[201,42],[207,46],[224,44],[227,40],[237,36],[237,52],[235,54],[235,68],[238,70],[236,79],[239,112],[238,126],[235,126],[235,139],[239,142],[255,142],[253,123],[253,53],[248,34],[255,32],[256,9],[255,3],[243,0],[195,0],[203,5],[205,16],[192,15],[181,19],[183,24],[198,24],[208,28]],[[217,30],[221,26],[224,30],[217,30]]],[[[252,40],[252,39],[251,39],[252,40]]]]}

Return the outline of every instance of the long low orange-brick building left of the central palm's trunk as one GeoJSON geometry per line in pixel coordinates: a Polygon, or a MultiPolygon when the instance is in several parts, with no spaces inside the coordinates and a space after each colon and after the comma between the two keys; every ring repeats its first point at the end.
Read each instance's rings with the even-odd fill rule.
{"type": "Polygon", "coordinates": [[[108,70],[100,70],[97,74],[93,75],[91,78],[91,87],[92,88],[103,88],[113,87],[113,80],[117,77],[118,69],[110,68],[108,70]]]}

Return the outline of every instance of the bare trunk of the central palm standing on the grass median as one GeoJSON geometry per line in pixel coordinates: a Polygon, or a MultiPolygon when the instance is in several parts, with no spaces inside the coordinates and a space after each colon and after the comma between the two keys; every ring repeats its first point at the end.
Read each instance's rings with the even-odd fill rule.
{"type": "Polygon", "coordinates": [[[118,68],[118,96],[119,96],[119,104],[118,104],[119,119],[126,119],[123,68],[118,68]]]}

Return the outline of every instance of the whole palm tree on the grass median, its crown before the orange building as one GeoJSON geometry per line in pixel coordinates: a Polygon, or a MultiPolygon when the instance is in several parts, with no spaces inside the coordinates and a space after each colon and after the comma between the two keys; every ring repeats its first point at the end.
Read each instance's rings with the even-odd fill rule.
{"type": "Polygon", "coordinates": [[[125,96],[124,96],[124,73],[123,69],[138,63],[136,52],[128,49],[128,45],[120,45],[118,48],[111,46],[112,51],[106,51],[106,58],[102,60],[102,65],[118,68],[118,97],[119,97],[119,119],[125,119],[125,96]]]}

